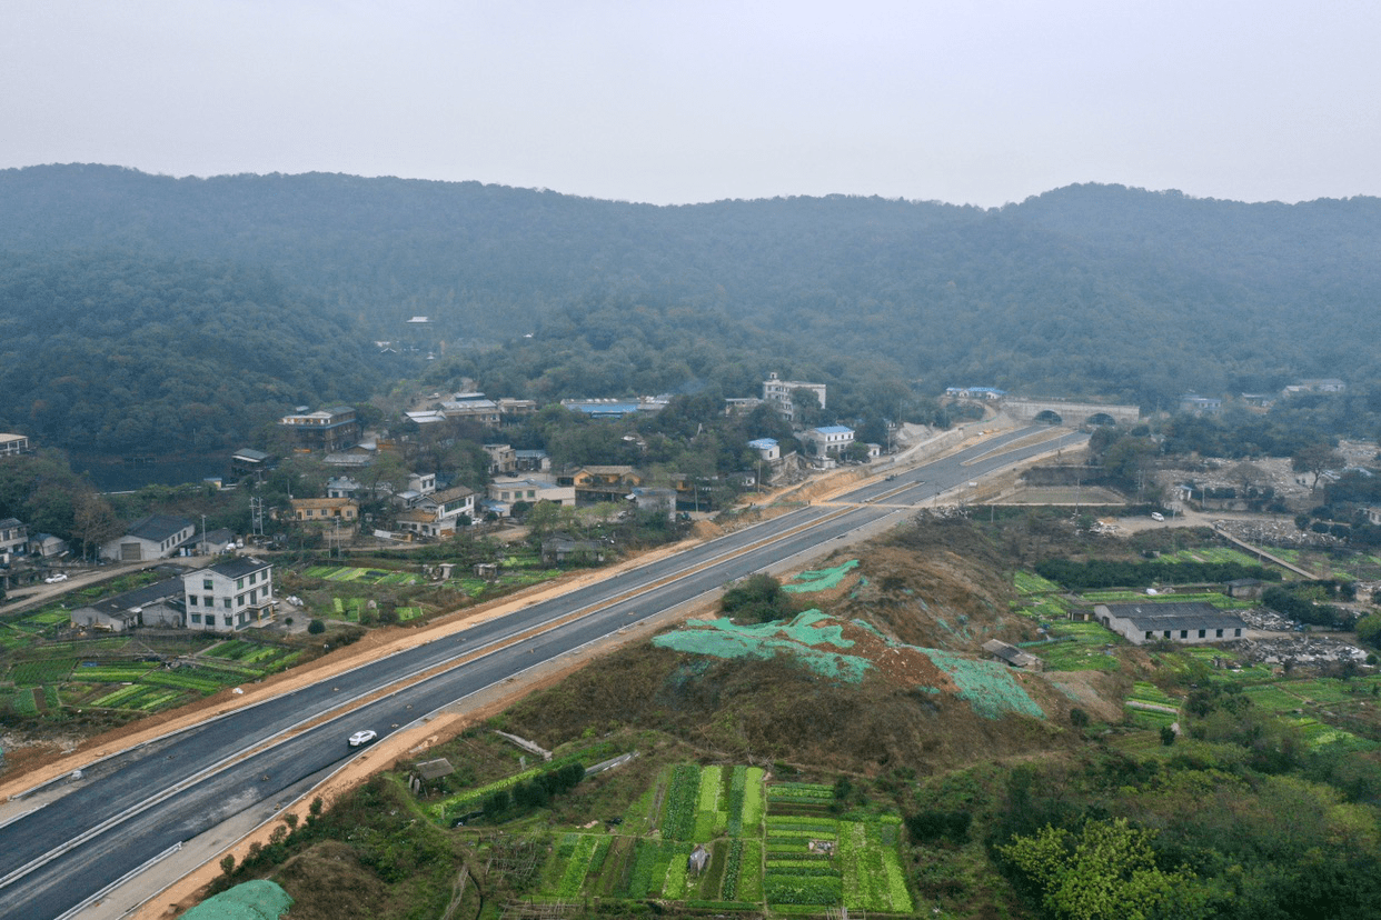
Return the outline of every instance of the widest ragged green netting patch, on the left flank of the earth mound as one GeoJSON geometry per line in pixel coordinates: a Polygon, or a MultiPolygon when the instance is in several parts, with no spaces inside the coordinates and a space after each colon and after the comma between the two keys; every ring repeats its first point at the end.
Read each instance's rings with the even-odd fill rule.
{"type": "Polygon", "coordinates": [[[840,655],[820,646],[851,648],[838,625],[816,626],[829,619],[818,610],[797,614],[787,622],[737,626],[732,619],[713,619],[699,626],[678,629],[652,640],[673,651],[714,658],[772,658],[778,652],[795,655],[805,666],[826,677],[859,683],[871,666],[866,658],[840,655]]]}

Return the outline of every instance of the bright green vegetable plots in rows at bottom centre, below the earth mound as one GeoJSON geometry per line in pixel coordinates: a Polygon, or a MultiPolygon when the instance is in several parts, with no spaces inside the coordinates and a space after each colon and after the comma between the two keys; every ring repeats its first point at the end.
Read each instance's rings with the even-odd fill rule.
{"type": "Polygon", "coordinates": [[[539,898],[677,901],[715,913],[914,910],[900,818],[841,821],[830,811],[833,786],[765,785],[757,767],[677,764],[650,800],[653,829],[641,836],[628,832],[648,823],[631,814],[559,834],[539,898]]]}

